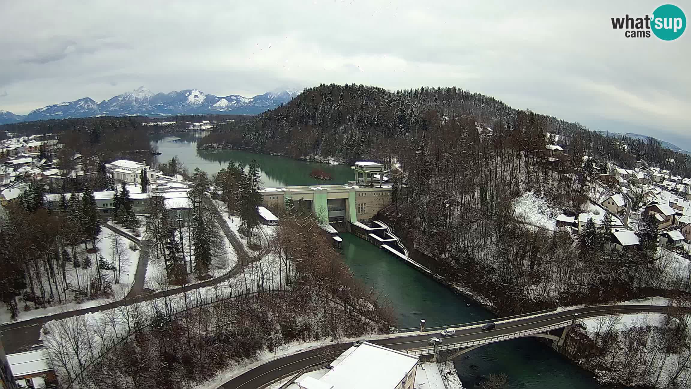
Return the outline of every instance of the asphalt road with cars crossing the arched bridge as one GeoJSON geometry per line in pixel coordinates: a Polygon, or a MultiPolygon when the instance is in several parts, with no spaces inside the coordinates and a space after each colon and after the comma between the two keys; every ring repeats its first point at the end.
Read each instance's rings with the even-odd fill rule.
{"type": "MultiPolygon", "coordinates": [[[[556,311],[549,314],[542,314],[540,316],[529,316],[516,320],[499,323],[500,318],[495,319],[497,323],[493,331],[483,332],[481,326],[462,328],[456,327],[454,336],[446,336],[443,338],[442,344],[453,344],[464,341],[473,341],[477,339],[487,338],[490,336],[499,336],[506,334],[513,334],[515,332],[526,331],[529,329],[537,329],[547,325],[561,323],[572,318],[574,314],[578,314],[578,318],[589,318],[594,316],[603,316],[607,314],[637,314],[637,313],[663,313],[668,307],[654,306],[654,305],[603,305],[598,307],[585,307],[577,309],[569,309],[564,311],[556,311]]],[[[408,336],[392,336],[390,338],[372,340],[372,343],[386,346],[394,350],[411,350],[415,348],[429,347],[428,341],[432,336],[439,336],[439,332],[413,332],[408,336]]],[[[348,350],[351,343],[337,343],[333,345],[326,345],[313,350],[307,350],[296,354],[283,356],[272,361],[267,361],[263,365],[247,370],[238,377],[231,379],[224,383],[221,387],[225,389],[256,389],[261,388],[268,383],[285,377],[288,374],[299,372],[303,368],[312,365],[320,364],[324,361],[332,361],[341,352],[348,350]]]]}

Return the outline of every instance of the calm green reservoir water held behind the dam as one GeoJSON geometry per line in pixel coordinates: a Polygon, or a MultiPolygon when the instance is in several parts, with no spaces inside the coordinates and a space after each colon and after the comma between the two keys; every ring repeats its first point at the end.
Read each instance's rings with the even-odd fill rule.
{"type": "Polygon", "coordinates": [[[296,161],[282,156],[255,154],[238,150],[197,150],[197,142],[207,132],[180,132],[174,134],[154,134],[151,142],[158,147],[158,161],[169,161],[178,156],[190,172],[200,168],[209,174],[225,168],[229,161],[249,165],[256,159],[261,168],[262,181],[265,187],[296,186],[296,185],[332,185],[354,180],[350,166],[328,165],[325,163],[310,163],[296,161]],[[321,169],[331,174],[333,180],[324,181],[310,177],[313,169],[321,169]]]}

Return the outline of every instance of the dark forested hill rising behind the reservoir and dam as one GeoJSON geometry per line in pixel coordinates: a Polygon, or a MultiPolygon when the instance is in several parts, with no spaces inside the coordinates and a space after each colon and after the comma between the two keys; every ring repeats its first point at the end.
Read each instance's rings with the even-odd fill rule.
{"type": "Polygon", "coordinates": [[[200,147],[246,148],[294,158],[335,157],[345,162],[386,161],[415,150],[423,134],[429,142],[439,137],[472,137],[468,130],[477,134],[476,122],[491,127],[519,149],[544,145],[542,138],[549,133],[561,135],[558,144],[562,147],[573,144],[573,150],[567,148],[572,156],[588,152],[623,166],[632,166],[640,158],[665,165],[672,158],[674,166],[665,167],[679,172],[691,166],[688,156],[665,150],[655,141],[603,136],[578,123],[513,109],[495,98],[456,87],[390,92],[355,84],[321,84],[305,89],[287,105],[218,127],[200,147]],[[627,152],[622,142],[629,146],[627,152]]]}

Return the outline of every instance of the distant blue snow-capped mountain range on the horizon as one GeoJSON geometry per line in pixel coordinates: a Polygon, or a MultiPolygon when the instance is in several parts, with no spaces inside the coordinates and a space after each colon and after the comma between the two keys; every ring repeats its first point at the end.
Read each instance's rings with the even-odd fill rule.
{"type": "Polygon", "coordinates": [[[289,102],[300,91],[278,90],[246,98],[239,95],[214,96],[198,89],[152,93],[139,87],[102,102],[91,98],[61,102],[15,115],[0,109],[0,125],[31,120],[86,118],[88,116],[169,116],[169,115],[256,115],[289,102]]]}

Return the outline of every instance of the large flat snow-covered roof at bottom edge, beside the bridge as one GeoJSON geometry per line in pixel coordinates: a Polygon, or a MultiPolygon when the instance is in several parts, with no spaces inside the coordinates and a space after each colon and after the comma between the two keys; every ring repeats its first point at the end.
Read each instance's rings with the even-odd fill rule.
{"type": "Polygon", "coordinates": [[[397,388],[417,361],[417,356],[365,342],[319,381],[333,389],[397,388]]]}

